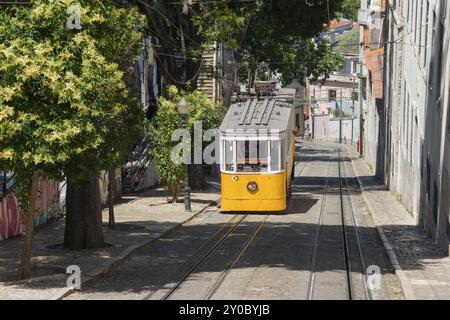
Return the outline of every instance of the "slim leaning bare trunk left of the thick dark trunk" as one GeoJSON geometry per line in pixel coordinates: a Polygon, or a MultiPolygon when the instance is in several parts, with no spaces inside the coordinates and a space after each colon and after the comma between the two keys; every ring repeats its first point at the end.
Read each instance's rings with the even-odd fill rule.
{"type": "Polygon", "coordinates": [[[31,192],[28,203],[28,215],[26,234],[22,247],[22,261],[19,267],[18,280],[26,279],[30,276],[30,262],[31,262],[31,247],[33,244],[33,228],[34,228],[34,213],[36,211],[36,203],[38,197],[39,186],[39,171],[34,170],[31,178],[31,192]]]}

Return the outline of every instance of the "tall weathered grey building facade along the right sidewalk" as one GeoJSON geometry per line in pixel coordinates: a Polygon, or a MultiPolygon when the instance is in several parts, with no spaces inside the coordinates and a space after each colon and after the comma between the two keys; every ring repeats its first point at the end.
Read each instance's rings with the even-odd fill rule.
{"type": "MultiPolygon", "coordinates": [[[[360,17],[367,8],[368,20],[373,22],[370,6],[374,2],[362,0],[360,17]]],[[[383,1],[378,2],[383,8],[383,1]]],[[[378,132],[370,130],[366,114],[365,137],[381,146],[376,151],[379,176],[417,224],[448,252],[450,4],[445,0],[389,0],[384,5],[380,36],[384,39],[383,108],[378,132]]],[[[369,29],[366,34],[373,33],[369,29]]],[[[367,54],[365,58],[367,67],[367,54]]],[[[365,156],[370,152],[365,150],[365,156]]]]}

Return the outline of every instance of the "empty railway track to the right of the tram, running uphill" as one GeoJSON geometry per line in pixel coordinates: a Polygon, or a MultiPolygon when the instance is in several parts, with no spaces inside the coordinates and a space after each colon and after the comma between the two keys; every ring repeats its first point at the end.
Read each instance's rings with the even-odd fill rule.
{"type": "MultiPolygon", "coordinates": [[[[338,158],[337,158],[337,165],[338,165],[338,184],[337,184],[337,190],[338,190],[338,198],[339,198],[339,215],[340,215],[340,228],[341,228],[341,249],[342,249],[342,268],[345,272],[345,287],[346,287],[346,299],[347,300],[354,300],[357,297],[355,294],[355,273],[358,273],[361,276],[362,284],[363,284],[363,291],[364,291],[364,299],[372,300],[373,295],[372,292],[369,290],[368,287],[368,279],[365,274],[366,270],[366,264],[364,260],[364,254],[361,247],[361,240],[358,233],[358,226],[356,223],[355,218],[355,212],[353,208],[353,202],[351,198],[351,190],[350,190],[350,184],[348,181],[348,175],[347,175],[347,168],[346,168],[346,162],[343,161],[341,151],[338,151],[338,158]],[[351,240],[354,241],[354,243],[351,242],[351,240]],[[350,254],[350,248],[354,247],[356,245],[357,248],[357,256],[358,261],[355,261],[355,255],[350,254]],[[355,267],[355,265],[359,265],[359,268],[355,267]],[[358,270],[359,269],[359,270],[358,270]]],[[[335,162],[332,162],[335,163],[335,162]]],[[[316,274],[317,274],[317,256],[318,256],[318,250],[320,250],[320,239],[322,236],[322,230],[323,230],[323,220],[324,215],[327,214],[326,212],[326,202],[329,194],[329,169],[331,164],[329,165],[327,169],[327,178],[324,185],[324,192],[322,196],[322,203],[321,208],[319,212],[319,220],[318,220],[318,230],[316,233],[315,243],[314,243],[314,250],[312,254],[311,259],[311,268],[310,268],[310,276],[308,281],[308,287],[307,287],[307,300],[313,300],[314,299],[314,292],[316,290],[316,274]]]]}

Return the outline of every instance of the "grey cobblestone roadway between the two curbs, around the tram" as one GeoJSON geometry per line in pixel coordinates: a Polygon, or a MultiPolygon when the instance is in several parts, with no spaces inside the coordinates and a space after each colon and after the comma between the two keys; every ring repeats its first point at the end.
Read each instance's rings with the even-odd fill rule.
{"type": "MultiPolygon", "coordinates": [[[[312,298],[347,299],[342,276],[346,271],[342,257],[337,254],[342,252],[337,246],[341,242],[341,233],[337,232],[341,226],[334,218],[340,211],[335,190],[338,149],[337,145],[298,144],[300,161],[287,212],[235,217],[218,210],[206,211],[143,246],[67,299],[161,299],[169,294],[170,299],[307,299],[315,249],[318,260],[312,298]],[[331,181],[333,188],[325,201],[327,181],[331,181]],[[323,240],[316,246],[320,212],[325,212],[328,218],[321,230],[323,240]],[[227,228],[234,224],[231,220],[239,217],[242,222],[215,248],[215,240],[226,235],[227,228]],[[202,257],[207,259],[203,261],[202,257]]],[[[345,166],[354,180],[348,161],[345,166]]],[[[351,198],[365,262],[381,269],[381,286],[373,292],[374,298],[403,299],[400,281],[358,188],[351,198]]],[[[350,250],[354,255],[355,248],[350,250]]],[[[352,277],[356,279],[359,275],[361,279],[363,270],[357,264],[353,266],[352,277]]],[[[361,291],[355,291],[356,299],[364,298],[361,291]]]]}

